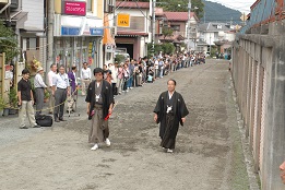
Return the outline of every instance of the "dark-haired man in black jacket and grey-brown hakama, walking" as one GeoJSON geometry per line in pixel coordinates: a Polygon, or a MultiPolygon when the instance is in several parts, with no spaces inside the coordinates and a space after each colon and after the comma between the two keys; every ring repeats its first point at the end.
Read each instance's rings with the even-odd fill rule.
{"type": "Polygon", "coordinates": [[[111,85],[103,80],[103,69],[96,68],[93,72],[95,81],[88,86],[85,102],[87,103],[88,119],[92,120],[88,142],[94,144],[91,150],[95,151],[102,142],[110,146],[108,117],[112,111],[114,95],[111,85]]]}

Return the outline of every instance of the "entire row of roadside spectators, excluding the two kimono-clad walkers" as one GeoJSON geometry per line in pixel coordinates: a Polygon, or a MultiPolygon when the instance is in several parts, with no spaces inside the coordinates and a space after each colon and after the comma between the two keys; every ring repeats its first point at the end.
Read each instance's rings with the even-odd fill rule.
{"type": "MultiPolygon", "coordinates": [[[[164,78],[164,75],[168,75],[177,70],[201,63],[205,63],[205,56],[203,54],[180,52],[175,55],[166,55],[159,52],[158,55],[151,58],[144,57],[139,58],[139,60],[127,59],[124,62],[109,63],[108,66],[105,64],[103,68],[103,79],[110,84],[112,94],[119,95],[122,93],[128,93],[133,87],[141,87],[145,83],[153,83],[156,80],[164,78]]],[[[32,107],[27,107],[26,105],[24,105],[23,100],[36,100],[35,114],[36,116],[40,115],[44,107],[44,94],[46,91],[48,91],[50,94],[48,110],[49,114],[54,115],[54,119],[56,122],[66,121],[63,119],[63,112],[67,98],[71,97],[73,103],[76,100],[79,78],[76,76],[78,68],[75,66],[73,66],[71,70],[66,73],[64,66],[57,67],[57,64],[55,63],[51,64],[50,71],[48,72],[47,83],[44,82],[43,73],[44,69],[39,67],[34,79],[34,84],[31,84],[28,88],[17,90],[19,103],[21,106],[21,129],[26,129],[26,126],[24,123],[25,117],[29,116],[29,118],[32,118],[32,107]],[[33,88],[35,92],[32,92],[33,88]],[[28,97],[23,98],[24,96],[21,96],[21,91],[22,94],[28,94],[28,97]],[[29,92],[32,92],[32,96],[29,96],[29,92]]],[[[26,70],[23,73],[23,75],[28,74],[29,72],[27,72],[26,70]]],[[[80,72],[82,90],[81,94],[83,96],[86,95],[86,91],[92,82],[92,71],[87,67],[87,63],[84,62],[80,72]]],[[[24,81],[27,82],[27,79],[24,79],[24,81]]],[[[31,104],[33,105],[34,103],[31,104]]],[[[74,104],[70,105],[68,109],[74,111],[74,104]]],[[[33,121],[31,122],[31,124],[36,126],[34,119],[32,120],[33,121]]]]}

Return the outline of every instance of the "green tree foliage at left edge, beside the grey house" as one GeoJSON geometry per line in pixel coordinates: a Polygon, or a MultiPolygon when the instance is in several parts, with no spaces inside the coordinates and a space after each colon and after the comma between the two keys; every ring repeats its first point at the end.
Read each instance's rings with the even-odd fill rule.
{"type": "Polygon", "coordinates": [[[19,55],[17,40],[10,27],[5,27],[0,21],[0,52],[5,52],[5,61],[11,61],[19,55]]]}

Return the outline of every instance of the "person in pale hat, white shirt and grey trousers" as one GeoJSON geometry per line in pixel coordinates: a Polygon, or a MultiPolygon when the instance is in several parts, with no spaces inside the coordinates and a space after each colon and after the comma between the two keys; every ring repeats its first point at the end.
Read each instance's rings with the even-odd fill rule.
{"type": "Polygon", "coordinates": [[[45,88],[47,85],[43,80],[44,69],[41,67],[37,68],[37,74],[35,75],[34,86],[36,92],[36,115],[41,114],[44,107],[45,88]]]}

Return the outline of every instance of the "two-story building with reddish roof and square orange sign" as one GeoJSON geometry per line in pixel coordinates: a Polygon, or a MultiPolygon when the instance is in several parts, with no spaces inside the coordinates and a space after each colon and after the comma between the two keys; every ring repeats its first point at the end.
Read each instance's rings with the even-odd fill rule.
{"type": "Polygon", "coordinates": [[[151,34],[150,2],[117,1],[116,16],[129,16],[129,23],[117,26],[115,38],[117,49],[124,50],[131,58],[139,59],[147,55],[151,34]]]}

